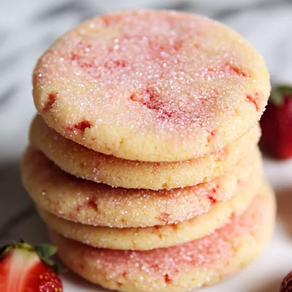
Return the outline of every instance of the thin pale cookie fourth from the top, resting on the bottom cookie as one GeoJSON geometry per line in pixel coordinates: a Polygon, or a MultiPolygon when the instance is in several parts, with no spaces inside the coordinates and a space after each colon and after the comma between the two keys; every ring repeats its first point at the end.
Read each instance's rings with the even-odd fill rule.
{"type": "Polygon", "coordinates": [[[215,202],[209,212],[195,216],[178,224],[153,227],[114,228],[83,225],[64,220],[38,208],[45,224],[64,237],[104,249],[150,250],[173,247],[205,237],[224,226],[234,216],[242,214],[257,195],[261,182],[256,180],[242,188],[227,202],[215,202]]]}

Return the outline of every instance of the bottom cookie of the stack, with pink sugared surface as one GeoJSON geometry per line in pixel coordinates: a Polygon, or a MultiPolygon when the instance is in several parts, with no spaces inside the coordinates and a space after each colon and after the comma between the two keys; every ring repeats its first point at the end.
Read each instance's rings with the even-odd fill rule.
{"type": "Polygon", "coordinates": [[[150,251],[97,249],[51,232],[68,268],[119,291],[187,291],[227,278],[250,264],[271,237],[274,194],[262,186],[248,210],[206,237],[150,251]]]}

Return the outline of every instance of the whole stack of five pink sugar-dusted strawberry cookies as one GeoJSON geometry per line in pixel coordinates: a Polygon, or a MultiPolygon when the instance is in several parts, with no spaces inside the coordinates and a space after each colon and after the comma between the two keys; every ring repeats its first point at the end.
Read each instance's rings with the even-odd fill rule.
{"type": "Polygon", "coordinates": [[[59,38],[33,73],[22,178],[60,259],[119,291],[186,291],[247,266],[275,203],[257,121],[262,58],[173,11],[124,11],[59,38]]]}

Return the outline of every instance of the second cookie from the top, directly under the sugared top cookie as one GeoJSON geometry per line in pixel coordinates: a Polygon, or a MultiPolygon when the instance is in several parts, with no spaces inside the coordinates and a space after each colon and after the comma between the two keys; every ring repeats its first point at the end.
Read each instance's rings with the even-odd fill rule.
{"type": "Polygon", "coordinates": [[[129,161],[92,151],[66,139],[37,116],[31,124],[30,143],[72,175],[122,188],[182,188],[225,173],[251,153],[259,141],[257,124],[242,138],[201,158],[178,162],[129,161]]]}

